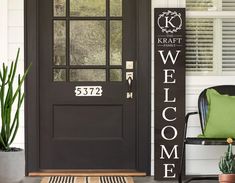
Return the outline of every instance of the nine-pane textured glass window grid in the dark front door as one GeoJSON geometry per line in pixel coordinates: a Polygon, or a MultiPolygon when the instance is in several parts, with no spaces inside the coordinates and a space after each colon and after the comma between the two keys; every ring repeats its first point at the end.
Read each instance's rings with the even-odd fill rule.
{"type": "MultiPolygon", "coordinates": [[[[55,39],[58,40],[53,46],[55,52],[55,55],[53,56],[54,81],[122,81],[124,77],[124,73],[122,72],[122,6],[122,0],[54,0],[53,20],[54,28],[57,31],[57,35],[55,35],[56,33],[54,31],[54,36],[56,37],[55,39]],[[97,1],[97,3],[94,3],[94,1],[97,1]],[[102,32],[99,33],[99,35],[103,35],[104,42],[102,43],[100,40],[95,41],[94,39],[86,39],[89,37],[89,34],[87,34],[88,36],[86,35],[87,37],[80,35],[81,40],[83,39],[88,43],[87,48],[90,49],[92,54],[85,54],[85,57],[84,54],[81,54],[83,55],[80,56],[82,59],[77,60],[77,62],[76,59],[71,59],[71,55],[74,53],[74,46],[71,45],[71,43],[76,43],[76,41],[78,41],[78,39],[74,39],[74,37],[71,35],[72,28],[75,27],[74,32],[77,32],[76,26],[70,25],[71,22],[83,21],[87,23],[89,22],[88,24],[93,22],[93,24],[98,25],[99,23],[94,22],[102,22],[102,20],[103,22],[106,22],[104,23],[103,28],[98,29],[96,26],[94,26],[93,30],[98,29],[98,31],[102,32]],[[65,22],[60,23],[61,25],[64,24],[61,26],[63,28],[58,30],[58,25],[56,27],[55,24],[59,23],[56,23],[56,21],[65,22]],[[62,29],[65,30],[62,31],[62,29]],[[58,33],[60,33],[60,35],[64,35],[64,37],[58,36],[58,33]],[[58,39],[58,37],[60,37],[60,39],[58,39]],[[66,42],[66,44],[63,46],[62,42],[66,42]],[[96,48],[90,48],[89,46],[91,44],[89,43],[91,42],[98,43],[98,46],[96,45],[96,48]],[[103,47],[103,51],[100,50],[101,47],[103,47]],[[62,53],[60,48],[63,48],[65,51],[62,53]],[[95,54],[95,52],[97,54],[95,54]]],[[[74,24],[78,24],[78,27],[84,27],[81,26],[80,23],[74,24]]],[[[90,27],[91,26],[89,25],[84,28],[84,32],[86,29],[89,30],[90,27]]],[[[81,31],[82,30],[80,29],[80,32],[81,31]]],[[[93,38],[98,38],[98,36],[93,33],[94,31],[91,32],[93,35],[91,33],[90,35],[92,35],[93,38]]],[[[77,49],[77,51],[78,50],[79,49],[77,49]]],[[[79,51],[83,53],[89,52],[87,50],[79,51]]]]}

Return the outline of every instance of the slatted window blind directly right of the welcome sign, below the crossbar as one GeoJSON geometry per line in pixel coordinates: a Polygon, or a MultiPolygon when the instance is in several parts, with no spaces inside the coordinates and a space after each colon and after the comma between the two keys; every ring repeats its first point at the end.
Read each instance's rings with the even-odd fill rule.
{"type": "Polygon", "coordinates": [[[186,21],[186,71],[213,71],[213,19],[186,21]]]}

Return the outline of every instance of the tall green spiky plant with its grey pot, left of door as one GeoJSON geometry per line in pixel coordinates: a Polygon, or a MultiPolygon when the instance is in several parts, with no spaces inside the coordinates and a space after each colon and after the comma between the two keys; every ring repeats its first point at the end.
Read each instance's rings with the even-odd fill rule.
{"type": "Polygon", "coordinates": [[[21,88],[31,67],[23,76],[16,76],[19,54],[20,49],[16,60],[9,67],[3,63],[0,69],[0,183],[19,182],[25,171],[23,149],[11,147],[19,129],[20,107],[25,97],[21,88]]]}

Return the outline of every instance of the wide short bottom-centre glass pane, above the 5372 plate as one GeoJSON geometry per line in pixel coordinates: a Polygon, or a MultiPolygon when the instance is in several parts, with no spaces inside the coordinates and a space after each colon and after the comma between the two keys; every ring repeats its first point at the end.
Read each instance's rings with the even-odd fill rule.
{"type": "Polygon", "coordinates": [[[70,81],[105,81],[105,69],[70,69],[70,81]]]}

